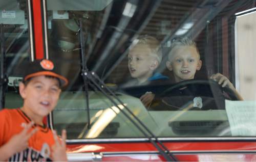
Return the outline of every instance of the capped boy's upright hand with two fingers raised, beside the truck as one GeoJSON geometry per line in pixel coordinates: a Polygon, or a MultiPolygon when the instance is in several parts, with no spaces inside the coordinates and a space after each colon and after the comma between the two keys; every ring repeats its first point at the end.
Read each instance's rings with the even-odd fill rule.
{"type": "Polygon", "coordinates": [[[53,137],[55,140],[55,144],[52,146],[53,161],[68,161],[66,153],[66,130],[62,130],[61,139],[58,139],[56,130],[53,130],[53,137]]]}

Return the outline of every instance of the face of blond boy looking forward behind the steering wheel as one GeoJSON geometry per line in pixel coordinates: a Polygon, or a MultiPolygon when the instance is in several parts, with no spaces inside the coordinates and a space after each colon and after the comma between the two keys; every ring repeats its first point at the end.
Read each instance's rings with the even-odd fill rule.
{"type": "Polygon", "coordinates": [[[194,79],[197,70],[200,70],[202,61],[194,46],[176,46],[173,56],[166,62],[167,68],[174,72],[175,82],[194,79]]]}

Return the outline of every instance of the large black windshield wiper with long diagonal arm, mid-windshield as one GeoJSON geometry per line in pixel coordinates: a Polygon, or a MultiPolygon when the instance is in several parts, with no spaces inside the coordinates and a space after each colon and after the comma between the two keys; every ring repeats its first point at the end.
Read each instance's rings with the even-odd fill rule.
{"type": "Polygon", "coordinates": [[[86,104],[87,104],[87,113],[88,113],[88,129],[90,129],[90,109],[89,109],[89,97],[88,97],[88,84],[92,85],[92,87],[96,87],[105,97],[107,97],[124,115],[128,118],[143,134],[144,136],[156,147],[159,153],[167,160],[167,161],[177,161],[176,157],[170,153],[170,151],[163,145],[161,141],[157,139],[157,137],[153,134],[153,132],[147,128],[147,126],[140,121],[140,119],[134,115],[134,113],[112,92],[99,78],[99,76],[88,70],[87,68],[87,61],[85,60],[85,53],[84,53],[84,39],[82,34],[82,21],[79,21],[79,40],[80,40],[80,47],[81,47],[81,62],[82,62],[82,78],[84,82],[84,93],[86,94],[86,104]],[[99,83],[99,84],[98,84],[99,83]],[[109,93],[109,94],[108,94],[109,93]],[[110,96],[111,94],[111,96],[110,96]],[[125,113],[120,106],[114,101],[115,98],[124,108],[131,114],[134,119],[140,124],[138,125],[135,120],[133,120],[127,113],[125,113]],[[145,129],[146,131],[144,131],[145,129]],[[150,134],[150,136],[148,136],[150,134]],[[158,145],[159,144],[159,145],[158,145]]]}

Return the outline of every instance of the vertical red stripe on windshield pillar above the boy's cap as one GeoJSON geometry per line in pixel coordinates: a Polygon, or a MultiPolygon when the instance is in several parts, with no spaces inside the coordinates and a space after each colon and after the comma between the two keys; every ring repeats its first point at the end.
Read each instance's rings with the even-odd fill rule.
{"type": "Polygon", "coordinates": [[[44,58],[44,39],[42,36],[42,11],[41,1],[33,0],[33,21],[34,21],[34,40],[35,40],[35,59],[44,58]]]}

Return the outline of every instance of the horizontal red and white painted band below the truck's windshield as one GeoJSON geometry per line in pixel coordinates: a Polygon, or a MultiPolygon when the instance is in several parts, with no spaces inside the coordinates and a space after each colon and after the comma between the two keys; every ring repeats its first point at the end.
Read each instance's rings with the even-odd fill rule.
{"type": "MultiPolygon", "coordinates": [[[[163,142],[172,151],[198,151],[195,153],[175,154],[178,161],[255,161],[252,153],[221,153],[221,151],[256,150],[256,142],[163,142]],[[200,152],[207,153],[200,153],[200,152]],[[218,151],[220,153],[211,153],[218,151]]],[[[109,143],[109,144],[67,144],[68,153],[78,152],[133,152],[157,151],[150,143],[109,143]]],[[[163,156],[156,154],[115,154],[104,156],[102,161],[165,161],[163,156]]]]}

